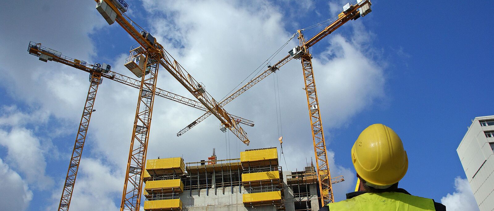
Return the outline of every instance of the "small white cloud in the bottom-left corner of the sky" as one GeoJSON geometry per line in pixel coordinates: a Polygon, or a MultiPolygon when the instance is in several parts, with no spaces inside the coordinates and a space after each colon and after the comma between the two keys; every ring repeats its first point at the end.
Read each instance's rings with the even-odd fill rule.
{"type": "Polygon", "coordinates": [[[8,211],[24,211],[33,199],[27,182],[17,172],[9,168],[0,158],[0,207],[8,211]]]}

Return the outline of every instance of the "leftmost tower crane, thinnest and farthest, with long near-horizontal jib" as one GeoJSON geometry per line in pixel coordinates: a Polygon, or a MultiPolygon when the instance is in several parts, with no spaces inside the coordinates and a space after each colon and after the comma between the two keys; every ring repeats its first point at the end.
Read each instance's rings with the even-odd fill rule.
{"type": "MultiPolygon", "coordinates": [[[[62,190],[62,196],[60,198],[60,203],[58,206],[58,211],[67,211],[70,207],[70,202],[72,199],[72,193],[74,185],[77,178],[77,172],[79,170],[79,164],[81,161],[82,150],[84,147],[84,141],[87,134],[87,129],[89,126],[89,121],[91,118],[94,105],[94,100],[96,99],[96,93],[98,86],[102,83],[103,77],[120,82],[122,84],[128,85],[133,88],[139,88],[139,82],[133,78],[129,78],[122,74],[111,71],[111,66],[108,64],[87,64],[83,60],[72,59],[70,57],[62,55],[60,52],[55,51],[50,48],[41,46],[41,43],[30,42],[28,46],[28,52],[40,58],[40,60],[47,62],[48,60],[57,61],[68,66],[89,72],[89,90],[87,92],[87,97],[82,112],[81,122],[79,124],[78,133],[76,136],[76,142],[74,144],[74,149],[72,151],[71,160],[69,163],[69,168],[67,170],[67,176],[65,178],[64,187],[62,190]]],[[[169,91],[161,90],[156,88],[156,95],[164,97],[175,102],[188,105],[190,107],[207,111],[207,109],[195,100],[189,99],[187,97],[180,96],[178,94],[171,93],[169,91]]],[[[243,118],[230,115],[231,118],[239,121],[240,123],[253,126],[252,121],[245,120],[243,118]]]]}

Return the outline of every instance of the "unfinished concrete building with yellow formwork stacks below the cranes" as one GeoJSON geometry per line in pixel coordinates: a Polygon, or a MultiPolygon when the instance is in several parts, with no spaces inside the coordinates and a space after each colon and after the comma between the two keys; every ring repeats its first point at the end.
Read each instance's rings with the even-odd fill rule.
{"type": "MultiPolygon", "coordinates": [[[[247,150],[240,158],[213,155],[147,160],[145,211],[312,211],[321,207],[313,166],[282,171],[276,148],[247,150]]],[[[342,179],[341,179],[342,180],[342,179]]]]}

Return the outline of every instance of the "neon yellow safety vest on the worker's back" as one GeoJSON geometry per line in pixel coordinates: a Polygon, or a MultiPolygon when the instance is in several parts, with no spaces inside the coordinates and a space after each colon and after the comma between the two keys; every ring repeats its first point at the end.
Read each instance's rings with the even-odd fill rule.
{"type": "Polygon", "coordinates": [[[432,199],[398,192],[364,193],[330,203],[329,211],[435,211],[432,199]]]}

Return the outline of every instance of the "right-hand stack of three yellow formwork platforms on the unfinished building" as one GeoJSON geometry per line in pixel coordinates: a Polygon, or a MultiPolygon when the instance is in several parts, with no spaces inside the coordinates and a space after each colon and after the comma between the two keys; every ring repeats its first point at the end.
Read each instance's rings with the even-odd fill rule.
{"type": "Polygon", "coordinates": [[[243,203],[246,207],[274,205],[285,210],[281,167],[276,148],[247,150],[240,153],[242,163],[243,203]],[[280,177],[281,175],[281,177],[280,177]]]}

